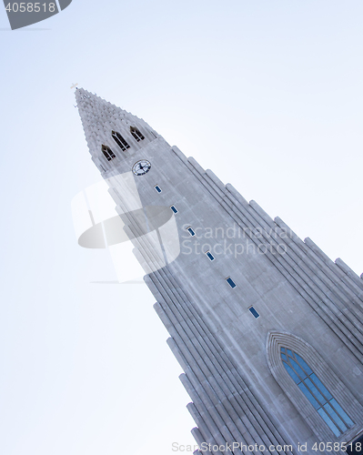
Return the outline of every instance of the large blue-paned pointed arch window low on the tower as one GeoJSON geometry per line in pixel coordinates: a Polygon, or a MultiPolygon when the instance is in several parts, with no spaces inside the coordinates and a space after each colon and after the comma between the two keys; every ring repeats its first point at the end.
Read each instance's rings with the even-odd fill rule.
{"type": "Polygon", "coordinates": [[[287,348],[281,348],[280,355],[290,378],[337,437],[354,425],[305,360],[287,348]]]}

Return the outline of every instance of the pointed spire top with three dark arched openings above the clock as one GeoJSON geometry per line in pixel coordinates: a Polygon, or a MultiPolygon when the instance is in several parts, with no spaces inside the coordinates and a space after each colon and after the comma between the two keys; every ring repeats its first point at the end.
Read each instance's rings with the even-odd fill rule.
{"type": "Polygon", "coordinates": [[[159,137],[142,118],[84,88],[76,90],[76,104],[89,151],[101,172],[112,167],[111,161],[122,161],[159,137]]]}

